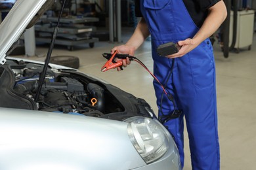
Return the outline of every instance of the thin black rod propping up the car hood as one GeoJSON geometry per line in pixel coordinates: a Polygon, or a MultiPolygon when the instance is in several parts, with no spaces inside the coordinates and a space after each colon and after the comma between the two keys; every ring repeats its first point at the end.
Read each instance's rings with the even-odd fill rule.
{"type": "Polygon", "coordinates": [[[35,102],[38,101],[39,94],[41,92],[43,83],[45,82],[45,75],[47,73],[47,68],[48,68],[48,65],[49,65],[51,54],[53,52],[53,47],[54,47],[54,43],[55,43],[55,40],[56,40],[56,37],[57,37],[57,32],[58,32],[58,25],[60,24],[60,18],[62,16],[62,12],[64,10],[65,4],[66,4],[66,0],[64,0],[64,2],[62,4],[62,8],[61,8],[60,14],[58,16],[58,22],[56,24],[56,27],[54,27],[53,37],[52,37],[51,44],[49,46],[49,50],[47,52],[47,56],[46,56],[46,59],[45,59],[45,65],[43,65],[43,71],[41,72],[40,77],[39,77],[39,85],[38,85],[38,88],[37,88],[37,93],[35,94],[35,102]]]}

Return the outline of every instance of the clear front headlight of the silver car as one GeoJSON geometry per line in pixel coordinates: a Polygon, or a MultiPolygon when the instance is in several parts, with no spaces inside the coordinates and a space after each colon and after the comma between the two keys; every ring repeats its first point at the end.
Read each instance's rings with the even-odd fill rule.
{"type": "Polygon", "coordinates": [[[151,118],[133,117],[128,118],[127,133],[146,163],[156,161],[169,147],[169,135],[163,126],[151,118]]]}

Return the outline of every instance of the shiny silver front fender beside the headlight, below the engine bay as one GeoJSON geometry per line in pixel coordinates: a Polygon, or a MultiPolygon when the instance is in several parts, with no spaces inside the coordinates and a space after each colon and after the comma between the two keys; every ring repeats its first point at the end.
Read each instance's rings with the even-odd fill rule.
{"type": "Polygon", "coordinates": [[[129,140],[126,122],[0,110],[0,169],[133,169],[146,165],[129,140]]]}

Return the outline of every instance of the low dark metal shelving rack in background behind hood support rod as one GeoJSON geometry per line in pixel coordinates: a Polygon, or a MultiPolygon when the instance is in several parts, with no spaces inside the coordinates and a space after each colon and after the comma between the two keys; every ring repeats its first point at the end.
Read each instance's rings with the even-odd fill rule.
{"type": "MultiPolygon", "coordinates": [[[[35,41],[51,43],[52,33],[57,21],[58,18],[48,17],[43,18],[41,24],[35,25],[35,41]]],[[[98,18],[77,18],[75,16],[61,18],[55,44],[67,46],[68,50],[74,50],[74,46],[81,44],[89,44],[93,48],[98,38],[91,37],[91,32],[95,31],[96,28],[87,26],[88,22],[98,22],[98,18]]]]}

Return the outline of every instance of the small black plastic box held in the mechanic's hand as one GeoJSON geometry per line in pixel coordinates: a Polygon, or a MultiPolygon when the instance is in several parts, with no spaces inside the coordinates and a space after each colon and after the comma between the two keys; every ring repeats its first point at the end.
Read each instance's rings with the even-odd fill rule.
{"type": "Polygon", "coordinates": [[[156,51],[158,52],[159,56],[165,57],[179,52],[180,49],[181,46],[179,46],[179,44],[174,42],[167,42],[165,44],[161,44],[160,46],[158,46],[156,51]]]}

